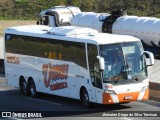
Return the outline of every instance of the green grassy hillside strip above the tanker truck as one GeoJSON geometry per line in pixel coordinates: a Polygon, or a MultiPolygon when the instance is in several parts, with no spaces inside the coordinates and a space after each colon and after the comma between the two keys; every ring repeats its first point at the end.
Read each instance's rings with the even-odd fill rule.
{"type": "Polygon", "coordinates": [[[160,18],[160,0],[0,0],[0,19],[37,19],[40,11],[58,5],[107,13],[124,9],[129,15],[160,18]]]}

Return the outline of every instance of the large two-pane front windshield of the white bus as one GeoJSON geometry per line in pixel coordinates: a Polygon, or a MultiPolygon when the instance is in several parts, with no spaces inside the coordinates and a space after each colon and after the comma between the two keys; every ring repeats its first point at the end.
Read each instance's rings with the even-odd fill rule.
{"type": "Polygon", "coordinates": [[[101,45],[100,55],[105,60],[104,83],[142,81],[148,76],[140,42],[101,45]]]}

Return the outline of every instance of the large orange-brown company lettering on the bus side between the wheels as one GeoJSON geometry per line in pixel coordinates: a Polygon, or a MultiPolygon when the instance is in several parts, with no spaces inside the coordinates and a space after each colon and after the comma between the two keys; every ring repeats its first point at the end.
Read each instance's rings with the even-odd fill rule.
{"type": "Polygon", "coordinates": [[[58,82],[60,80],[67,80],[68,78],[68,64],[61,65],[51,65],[43,64],[42,65],[42,73],[44,76],[44,84],[46,88],[50,87],[50,91],[67,88],[67,81],[58,82]],[[51,83],[51,81],[57,81],[55,84],[51,83]]]}

